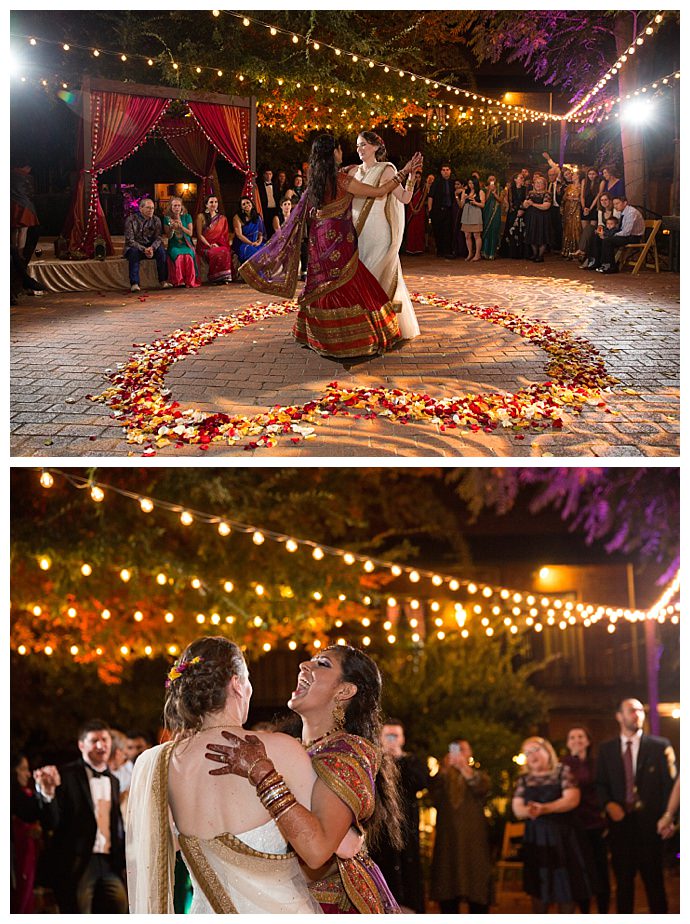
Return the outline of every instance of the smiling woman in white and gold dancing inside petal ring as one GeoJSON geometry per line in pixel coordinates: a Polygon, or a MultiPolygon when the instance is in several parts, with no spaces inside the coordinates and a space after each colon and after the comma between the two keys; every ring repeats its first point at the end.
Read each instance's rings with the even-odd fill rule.
{"type": "MultiPolygon", "coordinates": [[[[375,132],[361,132],[357,137],[359,167],[348,171],[360,183],[380,186],[396,172],[386,160],[386,148],[375,132]]],[[[377,278],[393,302],[400,305],[398,324],[404,340],[419,336],[419,324],[410,293],[400,267],[398,251],[405,230],[405,205],[412,198],[413,188],[399,186],[381,199],[358,199],[352,202],[352,218],[357,230],[359,259],[377,278]]]]}

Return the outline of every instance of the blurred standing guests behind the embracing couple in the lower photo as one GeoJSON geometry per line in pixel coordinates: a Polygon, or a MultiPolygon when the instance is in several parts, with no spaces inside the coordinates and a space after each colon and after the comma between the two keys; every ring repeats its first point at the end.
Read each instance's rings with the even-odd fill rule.
{"type": "MultiPolygon", "coordinates": [[[[680,789],[671,744],[644,731],[645,717],[639,700],[624,699],[615,709],[615,737],[595,747],[589,731],[575,723],[560,758],[546,738],[523,741],[511,808],[524,822],[522,883],[533,913],[607,914],[612,885],[616,912],[632,913],[638,872],[649,912],[668,912],[664,842],[676,831],[680,789]]],[[[125,734],[91,719],[77,735],[79,758],[59,771],[42,766],[32,773],[25,754],[13,757],[13,913],[36,910],[39,878],[63,914],[126,913],[124,801],[133,765],[152,745],[140,731],[125,734]]],[[[397,768],[403,839],[389,841],[384,832],[372,858],[402,911],[488,913],[496,902],[497,859],[488,806],[500,793],[492,793],[471,742],[451,741],[438,771],[430,773],[408,750],[403,722],[389,718],[381,748],[397,768]],[[436,813],[428,880],[420,798],[436,813]]],[[[188,884],[185,877],[180,866],[180,888],[188,884]]]]}

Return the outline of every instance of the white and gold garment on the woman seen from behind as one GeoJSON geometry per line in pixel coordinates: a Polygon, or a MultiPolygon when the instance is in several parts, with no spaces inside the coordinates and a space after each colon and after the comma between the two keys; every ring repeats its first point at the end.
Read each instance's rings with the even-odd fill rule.
{"type": "MultiPolygon", "coordinates": [[[[175,844],[167,797],[172,743],[144,751],[127,804],[132,914],[172,914],[175,844]]],[[[240,835],[177,835],[194,886],[190,914],[321,914],[274,821],[240,835]],[[288,852],[289,851],[289,852],[288,852]]]]}

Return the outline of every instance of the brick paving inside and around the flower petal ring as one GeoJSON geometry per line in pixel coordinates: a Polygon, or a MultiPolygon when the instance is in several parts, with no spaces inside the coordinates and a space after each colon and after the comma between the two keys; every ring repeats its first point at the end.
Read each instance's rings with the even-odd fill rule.
{"type": "MultiPolygon", "coordinates": [[[[602,276],[560,257],[544,264],[497,260],[467,264],[406,258],[410,291],[475,305],[498,305],[585,337],[621,381],[607,402],[614,414],[586,407],[560,431],[439,432],[431,424],[393,424],[336,416],[316,438],[271,449],[214,443],[166,447],[162,457],[440,457],[665,456],[679,452],[680,280],[676,274],[602,276]]],[[[127,456],[128,444],[104,405],[89,401],[108,384],[103,373],[124,362],[135,343],[231,314],[268,297],[246,285],[193,290],[46,293],[11,310],[11,453],[14,456],[127,456]]],[[[422,336],[394,353],[343,366],[298,347],[294,318],[273,318],[219,337],[168,373],[183,406],[252,414],[304,403],[329,382],[382,385],[433,397],[462,391],[513,391],[546,380],[546,354],[481,319],[418,306],[422,336]]]]}

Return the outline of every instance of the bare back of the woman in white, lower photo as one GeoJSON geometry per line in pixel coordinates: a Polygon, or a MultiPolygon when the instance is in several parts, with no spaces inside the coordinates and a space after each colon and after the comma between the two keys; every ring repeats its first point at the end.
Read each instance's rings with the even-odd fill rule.
{"type": "MultiPolygon", "coordinates": [[[[197,732],[180,741],[173,750],[168,794],[175,826],[182,834],[203,839],[224,833],[243,834],[270,818],[248,780],[234,774],[209,775],[209,770],[223,766],[204,757],[207,744],[225,743],[221,730],[197,732]]],[[[241,737],[247,734],[239,727],[228,728],[228,731],[241,737]]],[[[309,808],[316,775],[300,743],[278,733],[249,734],[263,741],[276,770],[297,800],[309,808]]]]}

